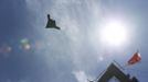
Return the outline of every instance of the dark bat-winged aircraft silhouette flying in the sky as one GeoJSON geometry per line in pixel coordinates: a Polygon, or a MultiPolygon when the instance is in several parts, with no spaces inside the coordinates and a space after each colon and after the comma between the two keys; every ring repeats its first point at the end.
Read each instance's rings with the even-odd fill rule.
{"type": "Polygon", "coordinates": [[[50,14],[47,14],[47,23],[46,23],[45,28],[56,28],[56,30],[61,30],[59,26],[56,26],[55,21],[50,17],[50,14]]]}

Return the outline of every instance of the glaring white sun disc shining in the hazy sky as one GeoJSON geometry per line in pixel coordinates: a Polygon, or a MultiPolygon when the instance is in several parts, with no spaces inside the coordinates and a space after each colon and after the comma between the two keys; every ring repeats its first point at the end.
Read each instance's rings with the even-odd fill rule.
{"type": "Polygon", "coordinates": [[[119,20],[109,20],[101,30],[101,40],[112,46],[124,45],[127,39],[126,26],[119,20]]]}

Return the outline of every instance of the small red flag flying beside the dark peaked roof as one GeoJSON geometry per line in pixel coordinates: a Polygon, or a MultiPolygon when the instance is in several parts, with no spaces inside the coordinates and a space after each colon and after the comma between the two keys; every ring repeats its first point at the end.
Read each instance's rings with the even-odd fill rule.
{"type": "Polygon", "coordinates": [[[134,56],[128,60],[128,65],[135,65],[141,60],[140,54],[137,51],[134,56]]]}

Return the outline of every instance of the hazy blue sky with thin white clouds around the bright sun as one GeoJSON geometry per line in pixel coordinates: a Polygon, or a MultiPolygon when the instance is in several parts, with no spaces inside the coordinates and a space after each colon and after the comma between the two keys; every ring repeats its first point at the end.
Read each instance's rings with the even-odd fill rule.
{"type": "Polygon", "coordinates": [[[87,82],[114,60],[145,82],[147,14],[147,0],[0,0],[0,82],[87,82]],[[49,13],[61,31],[45,28],[49,13]],[[126,43],[102,42],[108,20],[124,22],[126,43]]]}

